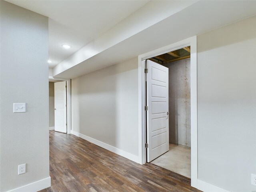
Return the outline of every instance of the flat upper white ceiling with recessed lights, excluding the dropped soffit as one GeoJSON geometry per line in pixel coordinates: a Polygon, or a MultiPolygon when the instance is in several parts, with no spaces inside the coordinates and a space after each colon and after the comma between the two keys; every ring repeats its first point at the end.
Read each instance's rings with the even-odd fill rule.
{"type": "Polygon", "coordinates": [[[49,60],[62,60],[144,6],[148,0],[7,0],[49,17],[49,60]],[[66,50],[62,44],[72,46],[66,50]]]}

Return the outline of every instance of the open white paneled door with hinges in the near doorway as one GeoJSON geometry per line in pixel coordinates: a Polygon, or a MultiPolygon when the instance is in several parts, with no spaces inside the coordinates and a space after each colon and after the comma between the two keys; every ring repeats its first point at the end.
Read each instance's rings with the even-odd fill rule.
{"type": "Polygon", "coordinates": [[[169,150],[168,68],[147,60],[147,162],[169,150]]]}

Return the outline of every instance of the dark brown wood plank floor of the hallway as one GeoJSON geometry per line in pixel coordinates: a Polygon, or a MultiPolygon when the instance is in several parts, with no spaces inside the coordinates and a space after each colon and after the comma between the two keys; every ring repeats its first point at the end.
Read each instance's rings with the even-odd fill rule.
{"type": "Polygon", "coordinates": [[[40,192],[200,192],[190,179],[140,165],[72,134],[50,131],[52,186],[40,192]]]}

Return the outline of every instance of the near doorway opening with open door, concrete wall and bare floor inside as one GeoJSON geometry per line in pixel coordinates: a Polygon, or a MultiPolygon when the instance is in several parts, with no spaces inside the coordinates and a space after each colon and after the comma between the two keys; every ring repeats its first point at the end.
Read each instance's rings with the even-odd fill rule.
{"type": "Polygon", "coordinates": [[[146,66],[147,143],[153,145],[147,162],[191,178],[190,46],[149,58],[146,66]]]}

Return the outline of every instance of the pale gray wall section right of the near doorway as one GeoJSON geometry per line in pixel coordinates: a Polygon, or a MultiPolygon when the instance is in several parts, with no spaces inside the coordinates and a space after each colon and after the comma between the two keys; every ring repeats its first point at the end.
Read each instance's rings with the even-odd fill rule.
{"type": "Polygon", "coordinates": [[[198,178],[251,192],[256,174],[256,16],[198,36],[198,178]]]}

